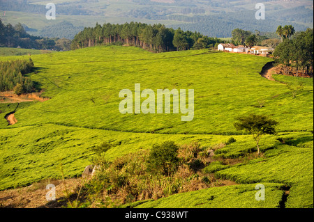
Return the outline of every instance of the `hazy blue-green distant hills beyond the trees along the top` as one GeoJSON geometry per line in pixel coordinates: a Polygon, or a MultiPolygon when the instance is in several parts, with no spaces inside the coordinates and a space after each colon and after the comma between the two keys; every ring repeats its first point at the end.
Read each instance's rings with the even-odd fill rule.
{"type": "Polygon", "coordinates": [[[274,32],[278,25],[292,24],[296,31],[313,27],[313,1],[263,1],[267,19],[255,19],[257,1],[147,1],[147,0],[78,0],[54,1],[57,19],[45,18],[45,5],[50,1],[2,0],[3,22],[27,25],[32,35],[52,36],[50,30],[59,27],[52,37],[70,38],[80,26],[123,24],[125,22],[162,23],[184,31],[197,31],[211,37],[230,37],[233,29],[274,32]],[[73,24],[68,26],[63,22],[73,24]]]}

